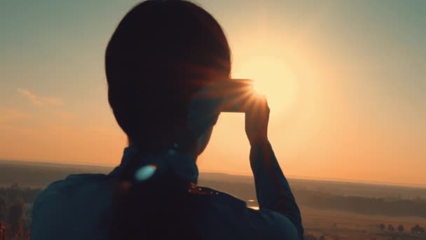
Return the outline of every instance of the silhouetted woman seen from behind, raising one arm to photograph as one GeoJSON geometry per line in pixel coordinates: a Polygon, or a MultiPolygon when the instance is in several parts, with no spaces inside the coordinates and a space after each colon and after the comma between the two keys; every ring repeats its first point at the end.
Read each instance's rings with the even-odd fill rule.
{"type": "Polygon", "coordinates": [[[197,185],[195,161],[219,112],[208,101],[194,109],[194,96],[231,72],[212,15],[188,1],[144,1],[116,28],[105,67],[129,146],[108,175],[50,184],[34,203],[32,239],[302,239],[298,206],[268,141],[264,98],[245,112],[259,211],[197,185]]]}

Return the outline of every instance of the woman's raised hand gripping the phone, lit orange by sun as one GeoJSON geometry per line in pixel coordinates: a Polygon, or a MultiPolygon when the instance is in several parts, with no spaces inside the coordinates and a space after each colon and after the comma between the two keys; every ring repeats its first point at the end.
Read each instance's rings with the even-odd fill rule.
{"type": "Polygon", "coordinates": [[[252,107],[249,107],[245,112],[245,133],[250,145],[268,142],[269,112],[266,97],[254,95],[252,107]]]}

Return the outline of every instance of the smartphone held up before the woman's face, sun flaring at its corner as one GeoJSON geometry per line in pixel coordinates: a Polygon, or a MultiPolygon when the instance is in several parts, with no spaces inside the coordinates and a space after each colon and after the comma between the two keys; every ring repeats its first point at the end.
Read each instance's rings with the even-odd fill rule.
{"type": "Polygon", "coordinates": [[[220,83],[221,112],[246,112],[253,98],[251,79],[226,79],[220,83]]]}

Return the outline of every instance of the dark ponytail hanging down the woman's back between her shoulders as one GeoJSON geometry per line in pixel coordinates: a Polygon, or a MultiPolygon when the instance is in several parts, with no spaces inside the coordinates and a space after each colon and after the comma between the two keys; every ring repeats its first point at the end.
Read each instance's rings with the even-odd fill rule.
{"type": "Polygon", "coordinates": [[[189,192],[193,183],[173,168],[141,164],[141,158],[134,154],[116,180],[111,240],[200,239],[195,226],[199,204],[189,192]],[[137,180],[146,167],[155,168],[153,175],[137,180]]]}

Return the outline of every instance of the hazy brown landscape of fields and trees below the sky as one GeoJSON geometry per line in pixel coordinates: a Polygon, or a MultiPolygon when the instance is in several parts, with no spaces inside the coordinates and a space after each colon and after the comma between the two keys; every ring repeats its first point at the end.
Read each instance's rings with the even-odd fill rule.
{"type": "MultiPolygon", "coordinates": [[[[21,231],[25,239],[29,209],[40,189],[71,173],[109,173],[111,169],[0,161],[0,222],[12,221],[8,229],[21,231]],[[15,201],[22,202],[22,209],[15,201]]],[[[305,239],[426,239],[426,188],[299,179],[289,182],[301,207],[305,239]]],[[[250,176],[201,173],[198,183],[257,207],[250,176]]]]}

